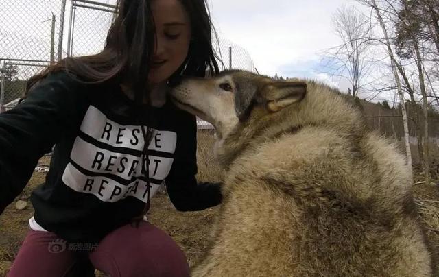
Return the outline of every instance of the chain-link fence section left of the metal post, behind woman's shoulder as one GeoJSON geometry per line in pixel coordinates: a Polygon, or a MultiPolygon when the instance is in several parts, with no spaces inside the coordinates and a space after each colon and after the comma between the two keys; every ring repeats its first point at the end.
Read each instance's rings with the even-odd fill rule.
{"type": "Polygon", "coordinates": [[[58,58],[62,1],[0,1],[0,112],[23,96],[25,83],[58,58]]]}

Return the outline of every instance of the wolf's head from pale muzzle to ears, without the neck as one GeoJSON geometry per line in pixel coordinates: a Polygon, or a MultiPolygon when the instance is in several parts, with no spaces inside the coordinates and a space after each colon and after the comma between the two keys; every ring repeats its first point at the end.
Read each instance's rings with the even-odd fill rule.
{"type": "Polygon", "coordinates": [[[171,93],[174,103],[215,126],[220,138],[239,123],[270,117],[305,97],[305,82],[276,82],[246,71],[188,78],[171,93]]]}

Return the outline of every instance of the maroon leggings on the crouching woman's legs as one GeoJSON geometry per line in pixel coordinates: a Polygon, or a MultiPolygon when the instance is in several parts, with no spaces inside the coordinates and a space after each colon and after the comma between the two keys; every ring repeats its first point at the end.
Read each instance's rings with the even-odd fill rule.
{"type": "Polygon", "coordinates": [[[112,277],[189,276],[185,254],[175,241],[145,221],[139,228],[122,226],[99,245],[67,247],[54,233],[30,230],[8,276],[65,276],[77,261],[75,250],[91,250],[93,266],[112,277]]]}

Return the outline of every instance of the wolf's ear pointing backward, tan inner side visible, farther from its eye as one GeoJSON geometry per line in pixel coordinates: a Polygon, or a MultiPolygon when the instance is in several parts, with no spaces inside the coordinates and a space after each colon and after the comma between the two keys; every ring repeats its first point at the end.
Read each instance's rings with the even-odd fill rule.
{"type": "Polygon", "coordinates": [[[278,112],[291,104],[302,101],[307,94],[307,83],[273,82],[266,84],[261,94],[268,110],[278,112]]]}

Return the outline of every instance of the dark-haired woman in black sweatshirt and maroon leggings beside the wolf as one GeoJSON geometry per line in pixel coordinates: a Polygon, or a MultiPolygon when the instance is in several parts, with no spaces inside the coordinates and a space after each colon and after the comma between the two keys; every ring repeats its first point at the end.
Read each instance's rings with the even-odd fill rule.
{"type": "Polygon", "coordinates": [[[84,258],[110,276],[188,276],[178,245],[142,220],[150,197],[165,181],[178,210],[221,202],[219,184],[195,180],[195,118],[165,94],[178,75],[218,71],[204,0],[117,5],[102,52],[32,77],[0,115],[0,213],[55,145],[9,276],[65,276],[84,258]]]}

